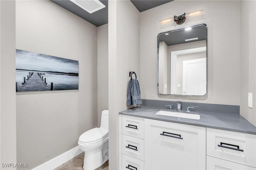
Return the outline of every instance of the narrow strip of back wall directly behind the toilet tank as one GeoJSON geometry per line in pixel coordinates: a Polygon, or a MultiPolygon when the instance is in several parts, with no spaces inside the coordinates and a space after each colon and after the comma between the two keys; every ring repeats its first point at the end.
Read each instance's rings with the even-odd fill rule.
{"type": "Polygon", "coordinates": [[[98,127],[101,113],[108,109],[108,24],[97,28],[98,41],[98,127]]]}

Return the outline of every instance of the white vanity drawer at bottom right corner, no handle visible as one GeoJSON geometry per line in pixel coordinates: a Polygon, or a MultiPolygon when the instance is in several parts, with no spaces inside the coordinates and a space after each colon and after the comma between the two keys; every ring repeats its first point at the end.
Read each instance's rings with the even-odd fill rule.
{"type": "Polygon", "coordinates": [[[256,170],[256,168],[206,156],[206,170],[256,170]]]}

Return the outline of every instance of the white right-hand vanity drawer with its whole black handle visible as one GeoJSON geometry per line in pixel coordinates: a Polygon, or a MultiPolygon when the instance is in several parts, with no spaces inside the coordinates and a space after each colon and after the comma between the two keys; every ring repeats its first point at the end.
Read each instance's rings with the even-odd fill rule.
{"type": "Polygon", "coordinates": [[[206,137],[208,156],[256,167],[256,135],[207,128],[206,137]]]}

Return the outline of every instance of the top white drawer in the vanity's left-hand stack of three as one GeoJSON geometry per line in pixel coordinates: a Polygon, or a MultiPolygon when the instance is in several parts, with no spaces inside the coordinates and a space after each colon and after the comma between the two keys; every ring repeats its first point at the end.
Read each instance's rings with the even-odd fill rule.
{"type": "Polygon", "coordinates": [[[122,134],[144,139],[144,118],[122,115],[122,134]]]}

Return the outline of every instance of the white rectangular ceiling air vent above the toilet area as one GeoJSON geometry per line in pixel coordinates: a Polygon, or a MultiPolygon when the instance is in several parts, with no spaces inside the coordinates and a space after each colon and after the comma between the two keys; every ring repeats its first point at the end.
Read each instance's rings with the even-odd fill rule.
{"type": "Polygon", "coordinates": [[[90,14],[96,12],[106,6],[102,4],[99,0],[70,0],[80,8],[86,10],[90,14]]]}

